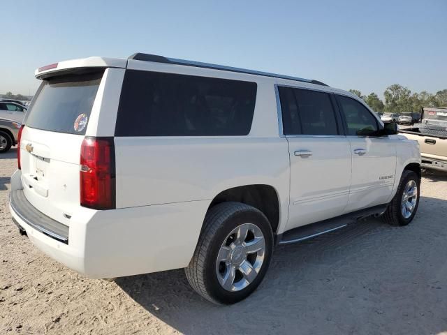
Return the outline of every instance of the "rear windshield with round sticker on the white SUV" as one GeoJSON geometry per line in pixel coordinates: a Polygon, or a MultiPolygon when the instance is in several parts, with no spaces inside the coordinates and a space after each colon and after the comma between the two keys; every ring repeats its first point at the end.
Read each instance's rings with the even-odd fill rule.
{"type": "Polygon", "coordinates": [[[25,124],[43,131],[85,135],[104,71],[43,80],[25,124]]]}

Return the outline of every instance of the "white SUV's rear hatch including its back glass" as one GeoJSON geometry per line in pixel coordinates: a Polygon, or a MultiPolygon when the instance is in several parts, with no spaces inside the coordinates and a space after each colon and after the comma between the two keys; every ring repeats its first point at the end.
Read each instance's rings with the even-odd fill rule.
{"type": "Polygon", "coordinates": [[[103,73],[66,73],[43,80],[24,120],[24,195],[36,209],[66,225],[80,206],[80,149],[103,73]]]}

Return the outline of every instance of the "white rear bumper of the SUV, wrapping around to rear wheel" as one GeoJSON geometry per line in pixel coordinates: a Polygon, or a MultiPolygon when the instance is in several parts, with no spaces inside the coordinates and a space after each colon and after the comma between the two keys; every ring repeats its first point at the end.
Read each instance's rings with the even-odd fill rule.
{"type": "MultiPolygon", "coordinates": [[[[11,184],[13,180],[11,178],[11,184]]],[[[17,190],[17,186],[12,189],[17,190]]],[[[114,278],[186,267],[196,248],[209,200],[73,214],[64,243],[42,230],[26,198],[10,196],[13,221],[31,243],[89,278],[114,278]],[[13,199],[13,201],[11,201],[13,199]]],[[[40,212],[39,212],[40,213],[40,212]]],[[[50,219],[51,220],[51,219],[50,219]]],[[[54,224],[54,222],[52,222],[54,224]]],[[[62,225],[61,223],[57,223],[62,225]]]]}

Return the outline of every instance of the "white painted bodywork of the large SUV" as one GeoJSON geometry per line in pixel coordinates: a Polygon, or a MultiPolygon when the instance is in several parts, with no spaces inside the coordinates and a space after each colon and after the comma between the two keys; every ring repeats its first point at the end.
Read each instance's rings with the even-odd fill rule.
{"type": "MultiPolygon", "coordinates": [[[[397,192],[404,169],[409,169],[410,164],[416,169],[420,165],[416,142],[402,136],[346,134],[344,127],[361,120],[344,119],[356,115],[355,112],[346,114],[349,107],[337,103],[342,96],[361,104],[361,108],[370,113],[367,117],[374,120],[377,134],[379,128],[383,128],[376,114],[349,92],[308,80],[194,65],[170,64],[157,59],[90,57],[36,70],[38,79],[50,81],[42,84],[24,120],[19,150],[21,169],[11,178],[10,197],[11,214],[33,244],[91,278],[187,267],[207,211],[217,200],[221,202],[219,195],[228,198],[232,194],[228,190],[259,185],[272,190],[271,199],[246,200],[249,204],[265,202],[264,214],[280,243],[286,241],[286,234],[310,223],[378,205],[383,212],[397,192]],[[249,84],[256,84],[256,103],[253,101],[249,132],[247,135],[129,135],[135,131],[131,129],[129,134],[122,135],[119,127],[130,121],[134,122],[135,129],[145,132],[145,126],[141,127],[141,121],[135,118],[140,115],[138,110],[120,111],[119,105],[123,103],[120,96],[124,99],[131,87],[126,87],[128,73],[129,78],[133,73],[135,76],[158,76],[160,80],[173,78],[172,75],[179,80],[182,80],[179,75],[202,78],[199,82],[211,78],[233,80],[247,86],[247,90],[249,84]],[[58,94],[60,87],[70,90],[70,94],[60,93],[64,91],[58,94]],[[295,92],[295,89],[320,92],[332,101],[337,135],[284,135],[280,91],[295,92]],[[76,100],[77,92],[84,94],[80,100],[76,100]],[[61,119],[61,124],[66,123],[65,128],[53,125],[54,118],[45,122],[45,112],[51,103],[55,104],[54,108],[61,103],[60,108],[73,114],[68,121],[61,119]],[[89,106],[87,109],[91,112],[83,114],[85,109],[80,109],[79,105],[89,106]],[[342,117],[344,108],[345,117],[342,117]],[[120,112],[129,113],[131,120],[120,112]],[[39,118],[33,117],[33,113],[39,114],[39,118]],[[82,128],[82,122],[76,120],[85,121],[87,127],[82,128]],[[82,178],[86,174],[83,173],[94,169],[82,163],[80,157],[85,152],[82,146],[85,138],[100,137],[111,143],[110,157],[115,161],[106,173],[112,176],[110,180],[115,180],[110,181],[115,182],[115,193],[107,205],[111,207],[106,206],[106,210],[96,205],[86,207],[82,200],[85,191],[80,191],[85,187],[82,178]],[[25,205],[28,211],[20,208],[25,205]],[[29,211],[44,217],[44,223],[36,222],[34,214],[27,215],[29,211]]],[[[229,83],[222,81],[223,86],[216,87],[228,89],[230,86],[225,85],[231,85],[229,83]]],[[[203,82],[200,85],[199,89],[203,82]]],[[[137,87],[141,89],[144,85],[134,85],[131,89],[137,87]]],[[[159,99],[163,98],[156,89],[150,91],[153,98],[148,104],[152,110],[156,110],[159,99]]],[[[202,94],[200,90],[191,94],[193,98],[185,98],[185,106],[191,103],[196,110],[184,112],[184,115],[186,128],[194,133],[200,123],[191,126],[188,118],[195,117],[198,106],[204,103],[196,100],[202,94]]],[[[208,93],[208,107],[214,101],[213,94],[219,91],[208,93]]],[[[225,101],[221,98],[223,105],[225,101]]],[[[228,107],[227,104],[225,108],[237,116],[237,111],[249,110],[249,103],[248,98],[237,96],[232,105],[228,107]]],[[[222,114],[224,107],[221,108],[213,111],[215,118],[210,121],[217,122],[217,133],[219,127],[229,122],[229,119],[222,121],[226,114],[222,114]]],[[[327,111],[316,113],[323,112],[327,111]]],[[[159,117],[155,113],[151,122],[159,117]]],[[[155,124],[154,131],[160,131],[162,125],[169,127],[170,122],[176,120],[163,122],[160,126],[155,124]]],[[[318,128],[321,122],[309,121],[309,125],[318,128]]],[[[244,196],[240,198],[245,201],[244,196]]]]}

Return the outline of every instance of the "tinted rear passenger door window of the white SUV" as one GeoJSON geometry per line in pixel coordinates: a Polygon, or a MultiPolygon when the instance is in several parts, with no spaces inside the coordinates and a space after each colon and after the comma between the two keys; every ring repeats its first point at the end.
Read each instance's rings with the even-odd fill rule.
{"type": "Polygon", "coordinates": [[[330,96],[308,89],[279,87],[286,135],[338,135],[330,96]]]}

